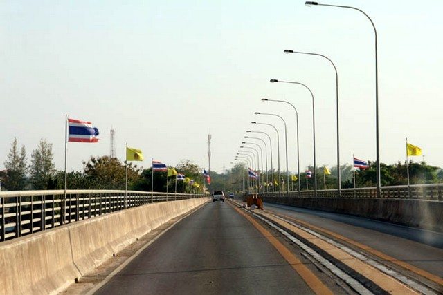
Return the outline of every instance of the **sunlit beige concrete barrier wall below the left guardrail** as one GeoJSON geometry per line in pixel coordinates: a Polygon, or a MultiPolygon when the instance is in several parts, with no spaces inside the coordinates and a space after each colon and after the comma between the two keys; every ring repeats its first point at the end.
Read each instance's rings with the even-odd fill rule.
{"type": "Polygon", "coordinates": [[[0,243],[0,294],[55,294],[208,198],[160,202],[0,243]]]}

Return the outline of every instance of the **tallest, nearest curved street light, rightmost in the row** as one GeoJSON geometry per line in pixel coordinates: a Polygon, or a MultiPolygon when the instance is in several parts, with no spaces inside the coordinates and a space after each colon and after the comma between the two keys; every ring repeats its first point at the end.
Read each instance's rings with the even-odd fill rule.
{"type": "Polygon", "coordinates": [[[367,15],[363,10],[359,8],[355,8],[352,6],[341,6],[341,5],[331,5],[331,4],[319,4],[313,1],[305,2],[306,6],[330,6],[330,7],[338,7],[338,8],[348,8],[357,10],[365,17],[369,19],[372,24],[372,28],[374,28],[375,34],[375,137],[377,142],[377,196],[380,197],[380,187],[381,187],[381,175],[380,175],[380,141],[379,141],[379,65],[378,65],[378,54],[377,54],[377,29],[375,28],[374,21],[367,15]]]}

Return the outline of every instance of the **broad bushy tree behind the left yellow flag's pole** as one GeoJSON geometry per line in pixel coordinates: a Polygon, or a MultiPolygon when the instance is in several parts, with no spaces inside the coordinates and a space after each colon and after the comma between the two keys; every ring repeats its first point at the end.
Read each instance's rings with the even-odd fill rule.
{"type": "MultiPolygon", "coordinates": [[[[90,189],[125,189],[125,164],[117,158],[105,155],[100,158],[91,157],[83,162],[84,176],[90,189]]],[[[129,163],[127,165],[127,186],[132,189],[140,178],[141,169],[129,163]]]]}

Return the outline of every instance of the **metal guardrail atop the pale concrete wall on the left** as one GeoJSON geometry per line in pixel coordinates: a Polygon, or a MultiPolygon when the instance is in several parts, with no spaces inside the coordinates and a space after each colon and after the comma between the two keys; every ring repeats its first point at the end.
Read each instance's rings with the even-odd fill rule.
{"type": "Polygon", "coordinates": [[[0,242],[154,202],[201,198],[183,193],[64,190],[0,192],[0,242]]]}

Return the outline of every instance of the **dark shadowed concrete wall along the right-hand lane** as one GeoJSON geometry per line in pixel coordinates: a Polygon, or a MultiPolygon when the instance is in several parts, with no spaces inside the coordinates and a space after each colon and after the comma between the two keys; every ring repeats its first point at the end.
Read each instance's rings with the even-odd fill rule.
{"type": "Polygon", "coordinates": [[[274,204],[345,213],[443,232],[443,202],[438,201],[287,197],[264,197],[263,200],[274,204]]]}

